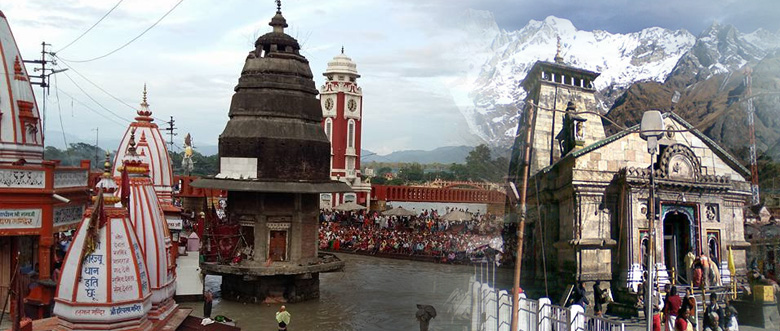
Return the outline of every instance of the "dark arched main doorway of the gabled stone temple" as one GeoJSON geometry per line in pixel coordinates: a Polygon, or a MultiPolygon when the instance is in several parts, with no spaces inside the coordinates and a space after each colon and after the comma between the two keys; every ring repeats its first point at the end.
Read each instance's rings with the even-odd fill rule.
{"type": "Polygon", "coordinates": [[[685,254],[692,250],[691,220],[684,213],[670,212],[664,217],[664,259],[670,276],[674,272],[678,283],[687,284],[685,254]]]}

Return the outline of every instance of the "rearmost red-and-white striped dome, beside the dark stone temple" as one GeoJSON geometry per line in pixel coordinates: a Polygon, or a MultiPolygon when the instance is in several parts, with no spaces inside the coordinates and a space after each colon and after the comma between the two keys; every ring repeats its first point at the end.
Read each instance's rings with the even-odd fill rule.
{"type": "Polygon", "coordinates": [[[111,173],[114,177],[119,177],[122,160],[125,157],[127,148],[130,144],[131,132],[139,139],[136,141],[136,149],[139,155],[146,157],[149,163],[149,176],[152,179],[154,190],[157,192],[160,202],[163,205],[173,204],[173,169],[171,159],[168,155],[168,146],[163,139],[160,129],[154,123],[152,111],[149,110],[149,104],[146,101],[146,85],[144,85],[143,101],[141,109],[137,111],[135,122],[130,123],[125,131],[122,140],[119,142],[116,156],[111,173]]]}

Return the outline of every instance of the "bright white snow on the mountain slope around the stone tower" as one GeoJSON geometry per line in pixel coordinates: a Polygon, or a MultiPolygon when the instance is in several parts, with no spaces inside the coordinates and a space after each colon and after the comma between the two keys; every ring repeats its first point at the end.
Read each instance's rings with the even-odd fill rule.
{"type": "MultiPolygon", "coordinates": [[[[481,23],[464,25],[466,40],[478,47],[467,53],[473,56],[472,63],[481,64],[470,65],[467,75],[450,85],[451,93],[472,133],[496,146],[511,143],[525,98],[520,82],[536,61],[552,61],[558,37],[565,63],[601,73],[595,81],[599,90],[625,88],[640,80],[663,81],[696,40],[685,30],[663,28],[630,34],[582,31],[554,16],[504,31],[486,23],[492,20],[489,13],[472,11],[469,16],[479,17],[481,23]],[[489,43],[475,42],[490,34],[489,43]]],[[[602,110],[607,110],[607,103],[602,110]]]]}

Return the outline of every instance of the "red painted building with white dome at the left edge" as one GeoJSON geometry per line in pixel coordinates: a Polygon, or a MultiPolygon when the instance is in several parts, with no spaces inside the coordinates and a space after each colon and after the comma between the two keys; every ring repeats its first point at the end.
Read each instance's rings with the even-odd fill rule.
{"type": "Polygon", "coordinates": [[[43,127],[30,77],[0,12],[0,301],[15,275],[26,304],[48,311],[56,233],[74,228],[88,199],[89,161],[63,167],[43,159],[43,127]]]}

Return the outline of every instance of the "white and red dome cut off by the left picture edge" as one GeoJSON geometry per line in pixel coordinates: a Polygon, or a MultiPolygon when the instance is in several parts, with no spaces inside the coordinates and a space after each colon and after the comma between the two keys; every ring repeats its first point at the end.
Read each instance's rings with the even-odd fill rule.
{"type": "Polygon", "coordinates": [[[0,162],[40,163],[43,160],[43,128],[30,77],[0,11],[0,53],[4,79],[0,79],[0,162]]]}

